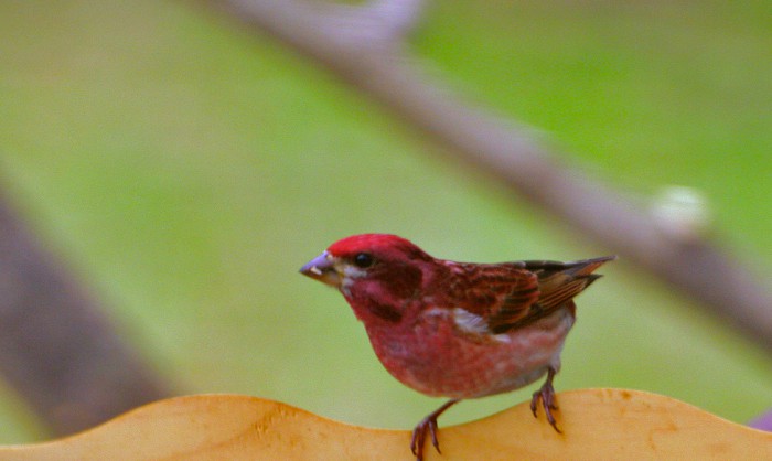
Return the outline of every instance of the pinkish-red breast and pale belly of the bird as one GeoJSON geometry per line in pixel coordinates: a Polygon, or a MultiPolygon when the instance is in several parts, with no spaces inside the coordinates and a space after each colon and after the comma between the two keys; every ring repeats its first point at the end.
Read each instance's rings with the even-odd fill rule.
{"type": "Polygon", "coordinates": [[[573,315],[566,309],[496,336],[459,331],[449,312],[422,312],[400,325],[367,324],[376,355],[405,385],[427,395],[472,398],[523,387],[558,369],[573,315]]]}

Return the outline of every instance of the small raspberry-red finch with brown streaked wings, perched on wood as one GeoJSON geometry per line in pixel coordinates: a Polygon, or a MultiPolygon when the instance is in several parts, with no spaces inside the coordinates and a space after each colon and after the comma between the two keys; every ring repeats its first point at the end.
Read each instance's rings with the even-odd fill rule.
{"type": "Polygon", "coordinates": [[[392,376],[449,398],[412,430],[410,451],[421,461],[427,437],[441,453],[437,419],[448,408],[544,375],[530,410],[536,417],[540,404],[561,432],[553,380],[576,320],[573,297],[615,258],[457,262],[393,234],[358,234],[333,243],[300,272],[340,290],[392,376]]]}

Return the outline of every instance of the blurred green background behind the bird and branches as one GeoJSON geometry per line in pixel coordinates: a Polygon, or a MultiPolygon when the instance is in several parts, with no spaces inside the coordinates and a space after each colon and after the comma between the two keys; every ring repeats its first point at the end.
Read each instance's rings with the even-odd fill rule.
{"type": "MultiPolygon", "coordinates": [[[[701,191],[716,239],[769,274],[770,19],[766,1],[438,1],[411,43],[642,203],[671,184],[701,191]]],[[[440,400],[393,379],[302,264],[362,232],[459,260],[609,251],[433,153],[325,72],[193,4],[0,2],[2,186],[180,394],[411,428],[440,400]]],[[[772,406],[762,350],[624,259],[604,274],[579,300],[558,390],[644,389],[741,422],[772,406]]],[[[45,437],[0,385],[0,443],[45,437]]]]}

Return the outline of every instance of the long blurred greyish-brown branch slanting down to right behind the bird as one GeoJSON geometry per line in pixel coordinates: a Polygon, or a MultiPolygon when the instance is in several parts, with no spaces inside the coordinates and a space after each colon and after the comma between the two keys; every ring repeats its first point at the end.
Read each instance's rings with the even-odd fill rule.
{"type": "Polygon", "coordinates": [[[214,3],[383,104],[447,148],[442,153],[490,174],[772,351],[772,296],[743,265],[698,236],[664,230],[630,197],[558,162],[532,130],[463,100],[447,83],[422,72],[399,43],[341,39],[360,32],[331,32],[329,15],[297,0],[214,3]]]}

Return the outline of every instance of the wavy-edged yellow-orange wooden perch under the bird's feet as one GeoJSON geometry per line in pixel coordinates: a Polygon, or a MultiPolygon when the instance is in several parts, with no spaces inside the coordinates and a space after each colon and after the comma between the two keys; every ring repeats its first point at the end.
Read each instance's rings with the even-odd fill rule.
{"type": "MultiPolygon", "coordinates": [[[[524,403],[441,428],[427,460],[772,459],[772,432],[668,397],[624,389],[558,395],[556,433],[524,403]]],[[[440,421],[441,422],[441,421],[440,421]]],[[[408,430],[350,426],[276,401],[197,395],[150,404],[50,442],[0,447],[1,460],[410,460],[408,430]]]]}

